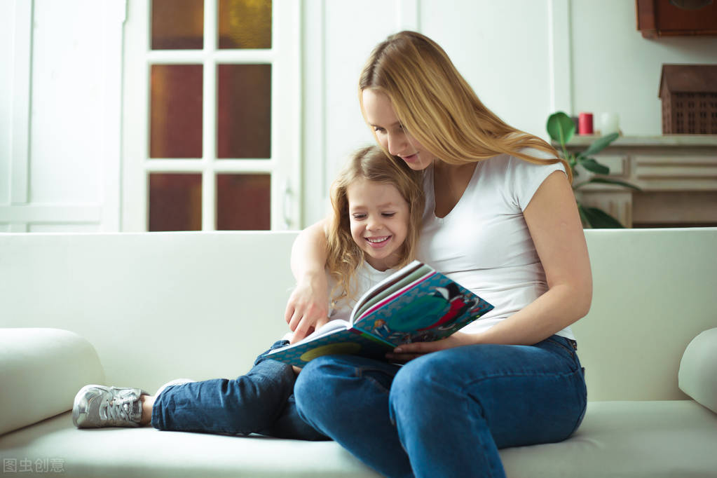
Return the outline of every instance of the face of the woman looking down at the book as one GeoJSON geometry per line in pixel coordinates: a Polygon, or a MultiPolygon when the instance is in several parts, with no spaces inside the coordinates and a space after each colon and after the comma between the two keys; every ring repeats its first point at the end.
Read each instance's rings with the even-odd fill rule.
{"type": "Polygon", "coordinates": [[[406,161],[409,168],[415,171],[427,168],[435,159],[435,154],[404,130],[389,97],[371,89],[364,90],[361,95],[366,120],[376,131],[379,144],[393,156],[399,156],[406,161]]]}

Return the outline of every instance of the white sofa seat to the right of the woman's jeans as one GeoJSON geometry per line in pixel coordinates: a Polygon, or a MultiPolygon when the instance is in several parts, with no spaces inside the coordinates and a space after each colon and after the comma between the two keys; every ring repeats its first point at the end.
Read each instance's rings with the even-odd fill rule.
{"type": "Polygon", "coordinates": [[[566,441],[500,450],[508,477],[714,477],[717,416],[692,400],[588,402],[566,441]]]}

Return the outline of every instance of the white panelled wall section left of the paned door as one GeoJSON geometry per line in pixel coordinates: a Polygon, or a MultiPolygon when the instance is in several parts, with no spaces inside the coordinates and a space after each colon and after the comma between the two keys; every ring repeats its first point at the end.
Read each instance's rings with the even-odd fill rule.
{"type": "Polygon", "coordinates": [[[118,229],[123,5],[0,2],[0,230],[118,229]]]}

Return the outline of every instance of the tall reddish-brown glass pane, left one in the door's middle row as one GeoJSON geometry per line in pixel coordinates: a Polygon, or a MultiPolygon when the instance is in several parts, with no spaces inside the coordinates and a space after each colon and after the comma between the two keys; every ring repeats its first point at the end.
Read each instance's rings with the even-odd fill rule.
{"type": "Polygon", "coordinates": [[[153,64],[150,158],[201,158],[201,64],[153,64]]]}

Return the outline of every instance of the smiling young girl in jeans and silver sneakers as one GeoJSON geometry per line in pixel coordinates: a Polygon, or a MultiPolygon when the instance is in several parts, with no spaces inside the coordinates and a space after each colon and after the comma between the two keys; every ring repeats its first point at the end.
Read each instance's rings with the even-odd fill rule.
{"type": "MultiPolygon", "coordinates": [[[[346,320],[356,298],[414,257],[424,206],[419,173],[376,146],[363,148],[334,181],[331,204],[327,292],[331,319],[346,320]]],[[[287,343],[280,340],[272,349],[287,343]]],[[[326,439],[296,414],[293,368],[263,355],[236,380],[174,381],[154,396],[140,388],[85,386],[75,397],[72,420],[79,428],[151,424],[160,430],[326,439]]]]}

